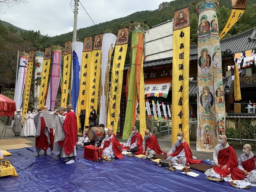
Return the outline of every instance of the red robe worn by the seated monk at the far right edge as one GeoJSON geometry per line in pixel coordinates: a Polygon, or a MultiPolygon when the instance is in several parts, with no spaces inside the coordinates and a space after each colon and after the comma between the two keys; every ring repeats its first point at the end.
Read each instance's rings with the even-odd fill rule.
{"type": "MultiPolygon", "coordinates": [[[[256,156],[254,155],[252,158],[243,161],[242,165],[245,171],[251,172],[254,170],[256,162],[256,156]]],[[[238,169],[237,167],[232,169],[231,178],[233,180],[243,180],[246,176],[244,175],[244,172],[241,169],[238,169]]]]}

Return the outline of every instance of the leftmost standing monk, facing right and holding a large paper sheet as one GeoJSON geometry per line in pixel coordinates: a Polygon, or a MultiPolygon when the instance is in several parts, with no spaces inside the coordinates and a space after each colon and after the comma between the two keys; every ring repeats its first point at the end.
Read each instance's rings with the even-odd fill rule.
{"type": "MultiPolygon", "coordinates": [[[[44,111],[48,111],[48,107],[44,105],[43,107],[44,111]]],[[[36,154],[35,156],[38,156],[41,149],[44,150],[44,154],[49,154],[47,152],[48,146],[49,146],[49,129],[46,126],[46,123],[44,121],[44,117],[42,116],[42,111],[38,110],[38,113],[34,116],[34,122],[35,122],[35,148],[36,148],[36,154]]]]}

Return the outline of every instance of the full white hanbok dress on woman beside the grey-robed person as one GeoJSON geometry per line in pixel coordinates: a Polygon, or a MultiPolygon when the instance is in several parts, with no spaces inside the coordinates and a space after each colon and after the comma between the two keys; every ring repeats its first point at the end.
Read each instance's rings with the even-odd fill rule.
{"type": "Polygon", "coordinates": [[[34,123],[35,114],[26,114],[25,122],[21,131],[21,137],[34,136],[35,137],[35,123],[34,123]]]}

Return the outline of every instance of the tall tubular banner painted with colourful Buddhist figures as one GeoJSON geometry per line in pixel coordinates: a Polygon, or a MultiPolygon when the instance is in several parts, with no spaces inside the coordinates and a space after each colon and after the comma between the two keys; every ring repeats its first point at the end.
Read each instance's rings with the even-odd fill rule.
{"type": "Polygon", "coordinates": [[[213,151],[218,144],[218,135],[225,134],[217,9],[217,0],[201,1],[198,4],[198,151],[213,151]]]}

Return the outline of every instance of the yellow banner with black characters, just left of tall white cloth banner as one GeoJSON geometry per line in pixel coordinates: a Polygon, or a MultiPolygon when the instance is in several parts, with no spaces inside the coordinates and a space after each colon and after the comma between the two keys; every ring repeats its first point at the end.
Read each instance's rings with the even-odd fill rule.
{"type": "Polygon", "coordinates": [[[88,71],[90,72],[90,79],[88,80],[88,99],[86,104],[85,123],[89,126],[90,112],[94,109],[97,113],[98,108],[98,93],[99,93],[99,77],[101,65],[101,48],[102,48],[102,35],[96,35],[93,44],[92,58],[88,71]]]}

